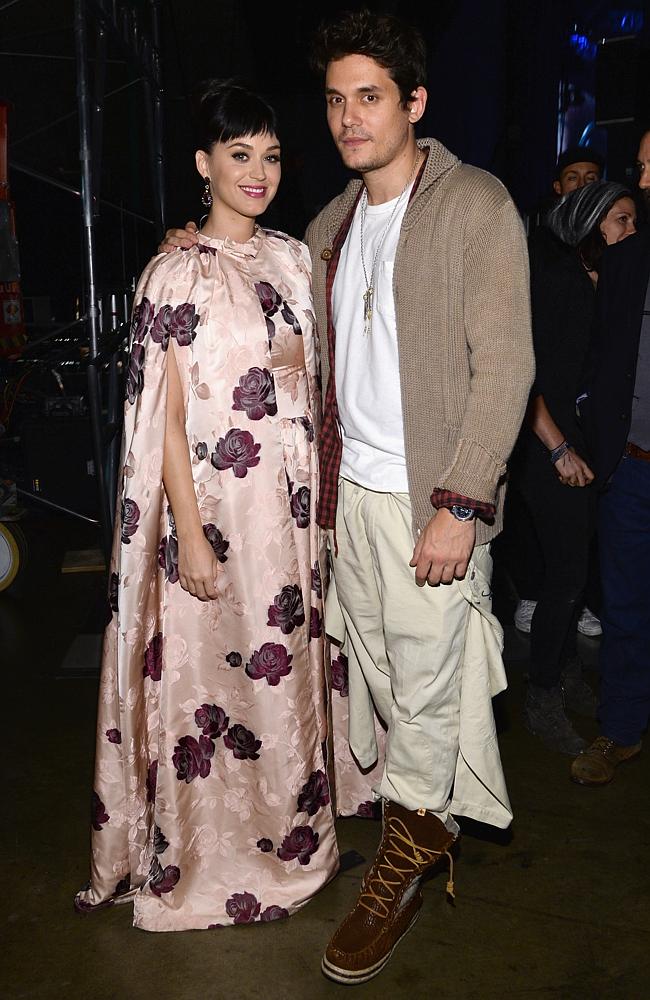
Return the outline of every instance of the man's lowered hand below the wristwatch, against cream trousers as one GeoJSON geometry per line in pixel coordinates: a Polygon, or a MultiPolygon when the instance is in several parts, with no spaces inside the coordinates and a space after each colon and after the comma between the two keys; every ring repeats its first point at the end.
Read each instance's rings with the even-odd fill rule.
{"type": "Polygon", "coordinates": [[[415,582],[435,587],[462,580],[476,541],[476,521],[458,521],[441,507],[420,535],[409,566],[415,566],[415,582]]]}

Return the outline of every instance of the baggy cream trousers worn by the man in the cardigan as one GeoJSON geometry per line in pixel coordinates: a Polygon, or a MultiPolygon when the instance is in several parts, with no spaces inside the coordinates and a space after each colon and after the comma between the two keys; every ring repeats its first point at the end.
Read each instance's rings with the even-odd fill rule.
{"type": "MultiPolygon", "coordinates": [[[[336,542],[334,556],[331,539],[332,561],[347,641],[388,727],[375,794],[447,821],[472,606],[459,581],[416,585],[406,493],[376,493],[340,480],[336,542]]],[[[476,562],[490,563],[487,545],[475,549],[468,574],[476,562]]]]}

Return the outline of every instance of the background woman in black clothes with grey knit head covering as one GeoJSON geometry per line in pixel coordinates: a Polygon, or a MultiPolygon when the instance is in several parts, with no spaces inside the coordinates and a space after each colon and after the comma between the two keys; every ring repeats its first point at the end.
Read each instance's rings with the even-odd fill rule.
{"type": "Polygon", "coordinates": [[[596,709],[576,652],[595,516],[576,396],[600,259],[608,244],[634,232],[635,219],[630,192],[598,181],[565,195],[530,241],[537,371],[512,480],[531,514],[544,577],[530,630],[524,722],[550,749],[572,756],[586,744],[566,709],[592,717],[596,709]]]}

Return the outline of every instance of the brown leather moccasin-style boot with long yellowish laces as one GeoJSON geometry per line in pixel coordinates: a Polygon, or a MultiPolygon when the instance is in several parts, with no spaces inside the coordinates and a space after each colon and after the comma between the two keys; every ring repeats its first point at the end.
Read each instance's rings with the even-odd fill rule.
{"type": "Polygon", "coordinates": [[[352,912],[327,946],[321,968],[337,983],[365,983],[388,962],[422,906],[424,873],[449,859],[447,892],[453,896],[456,840],[436,816],[384,801],[384,828],[375,860],[361,883],[352,912]]]}

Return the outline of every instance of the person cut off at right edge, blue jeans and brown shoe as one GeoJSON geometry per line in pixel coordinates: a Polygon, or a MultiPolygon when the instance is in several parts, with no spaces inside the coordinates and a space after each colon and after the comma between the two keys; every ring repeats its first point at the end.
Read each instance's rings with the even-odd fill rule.
{"type": "MultiPolygon", "coordinates": [[[[650,129],[637,154],[650,207],[650,129]]],[[[650,229],[604,255],[580,416],[602,490],[598,541],[603,585],[600,735],[575,758],[580,785],[611,781],[641,751],[650,719],[650,229]]]]}

